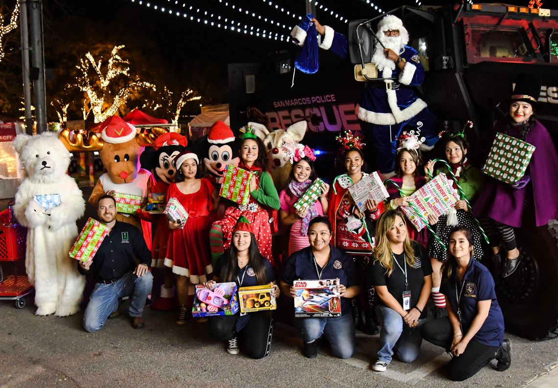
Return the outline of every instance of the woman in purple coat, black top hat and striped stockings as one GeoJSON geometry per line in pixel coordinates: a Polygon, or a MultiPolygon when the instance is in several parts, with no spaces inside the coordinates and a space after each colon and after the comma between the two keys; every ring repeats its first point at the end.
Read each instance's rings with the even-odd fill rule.
{"type": "Polygon", "coordinates": [[[521,227],[526,199],[535,206],[537,227],[558,218],[558,180],[554,178],[558,171],[558,155],[549,131],[536,119],[540,92],[540,79],[519,74],[510,99],[509,115],[495,128],[497,132],[536,147],[525,175],[513,185],[490,178],[473,210],[490,239],[494,263],[503,261],[501,243],[506,249],[502,277],[513,274],[522,259],[513,228],[521,227]]]}

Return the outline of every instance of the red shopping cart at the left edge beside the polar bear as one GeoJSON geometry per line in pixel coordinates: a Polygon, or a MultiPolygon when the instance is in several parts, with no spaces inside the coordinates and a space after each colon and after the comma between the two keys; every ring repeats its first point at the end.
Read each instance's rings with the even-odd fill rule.
{"type": "Polygon", "coordinates": [[[33,292],[26,275],[17,274],[17,261],[25,259],[27,228],[13,218],[12,209],[0,212],[0,300],[15,300],[16,307],[26,305],[25,297],[33,292]],[[13,275],[4,279],[2,262],[13,264],[13,275]]]}

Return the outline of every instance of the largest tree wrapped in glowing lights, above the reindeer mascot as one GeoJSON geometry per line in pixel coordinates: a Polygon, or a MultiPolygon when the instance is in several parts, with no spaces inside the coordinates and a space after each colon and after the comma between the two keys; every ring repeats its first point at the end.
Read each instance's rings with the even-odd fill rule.
{"type": "Polygon", "coordinates": [[[103,122],[107,117],[117,114],[128,99],[137,97],[142,90],[156,89],[155,85],[131,74],[129,62],[118,54],[123,48],[114,46],[106,63],[103,63],[102,57],[95,61],[88,52],[76,66],[79,70],[76,84],[86,96],[84,119],[93,113],[95,123],[103,122]]]}

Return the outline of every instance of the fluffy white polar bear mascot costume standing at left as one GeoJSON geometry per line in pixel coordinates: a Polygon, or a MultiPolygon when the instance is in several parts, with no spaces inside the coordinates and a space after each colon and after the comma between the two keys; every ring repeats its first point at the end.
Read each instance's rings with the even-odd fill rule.
{"type": "Polygon", "coordinates": [[[65,317],[78,312],[85,286],[68,255],[85,210],[83,194],[66,174],[70,153],[56,133],[19,135],[14,147],[26,172],[13,209],[28,228],[25,267],[35,286],[35,314],[65,317]]]}

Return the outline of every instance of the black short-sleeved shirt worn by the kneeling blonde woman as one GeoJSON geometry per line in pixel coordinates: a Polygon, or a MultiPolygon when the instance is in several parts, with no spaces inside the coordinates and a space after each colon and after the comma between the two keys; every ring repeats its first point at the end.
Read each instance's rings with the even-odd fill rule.
{"type": "MultiPolygon", "coordinates": [[[[393,263],[393,272],[390,276],[387,275],[387,270],[380,262],[375,259],[370,262],[367,269],[367,277],[373,280],[374,286],[387,286],[389,294],[391,294],[400,305],[403,303],[403,291],[411,291],[411,309],[419,302],[420,292],[424,284],[424,277],[432,274],[432,265],[430,264],[430,258],[426,255],[425,248],[417,242],[412,242],[412,245],[416,261],[414,266],[407,264],[404,253],[400,253],[399,255],[394,253],[393,256],[395,256],[395,260],[401,268],[397,266],[396,263],[393,263]],[[403,267],[403,264],[407,267],[407,290],[405,289],[405,272],[403,272],[405,267],[403,267]]],[[[386,305],[381,298],[377,298],[377,300],[379,303],[386,305]]],[[[426,309],[422,310],[420,316],[421,318],[426,317],[426,309]]]]}

